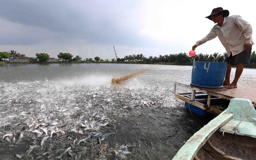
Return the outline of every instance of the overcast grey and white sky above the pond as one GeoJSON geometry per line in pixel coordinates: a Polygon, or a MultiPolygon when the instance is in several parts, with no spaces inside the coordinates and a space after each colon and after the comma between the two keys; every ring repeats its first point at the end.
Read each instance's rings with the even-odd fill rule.
{"type": "MultiPolygon", "coordinates": [[[[214,26],[205,16],[228,9],[256,27],[253,0],[0,0],[0,52],[29,57],[69,52],[82,59],[188,53],[214,26]]],[[[256,31],[256,30],[255,30],[256,31]]],[[[256,39],[256,32],[253,33],[256,39]]],[[[254,49],[254,46],[252,48],[254,49]]],[[[223,54],[218,38],[196,53],[223,54]]]]}

